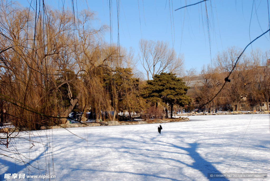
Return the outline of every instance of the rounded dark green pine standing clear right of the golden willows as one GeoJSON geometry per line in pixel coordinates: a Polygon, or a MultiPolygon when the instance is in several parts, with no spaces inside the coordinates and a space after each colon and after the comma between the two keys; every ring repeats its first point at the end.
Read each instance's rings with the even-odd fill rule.
{"type": "Polygon", "coordinates": [[[177,78],[172,73],[161,73],[155,75],[153,80],[147,81],[147,99],[152,103],[163,102],[171,107],[171,118],[173,106],[184,107],[191,102],[191,98],[186,96],[189,87],[181,78],[177,78]]]}

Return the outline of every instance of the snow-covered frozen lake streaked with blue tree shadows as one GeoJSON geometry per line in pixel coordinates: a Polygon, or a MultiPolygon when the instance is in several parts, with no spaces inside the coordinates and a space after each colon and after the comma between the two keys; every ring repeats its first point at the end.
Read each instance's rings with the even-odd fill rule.
{"type": "MultiPolygon", "coordinates": [[[[190,116],[187,122],[162,123],[161,134],[159,124],[68,128],[76,136],[65,129],[33,131],[12,144],[39,170],[0,155],[0,180],[24,180],[4,179],[7,173],[55,175],[51,180],[209,180],[208,173],[270,174],[269,116],[190,116]],[[36,142],[29,143],[29,138],[36,142]]],[[[220,180],[270,180],[270,175],[220,180]]]]}

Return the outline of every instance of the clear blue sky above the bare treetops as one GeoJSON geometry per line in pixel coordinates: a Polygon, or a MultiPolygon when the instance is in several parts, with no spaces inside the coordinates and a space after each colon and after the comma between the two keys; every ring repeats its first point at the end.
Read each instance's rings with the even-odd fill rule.
{"type": "MultiPolygon", "coordinates": [[[[188,5],[199,1],[187,0],[186,2],[188,5]]],[[[18,2],[23,6],[29,6],[30,0],[18,2]]],[[[45,2],[59,8],[64,0],[45,0],[45,2]]],[[[65,6],[71,7],[70,2],[71,0],[65,0],[65,6]]],[[[206,1],[210,20],[210,39],[205,16],[205,2],[177,11],[174,10],[184,6],[185,1],[122,0],[119,2],[121,45],[127,49],[133,47],[137,53],[141,38],[168,41],[177,53],[184,54],[186,68],[193,67],[198,71],[203,64],[211,63],[211,57],[214,58],[217,51],[222,51],[230,46],[244,49],[250,40],[269,29],[266,0],[255,0],[254,2],[251,0],[206,1]]],[[[96,12],[101,23],[110,25],[109,1],[77,0],[75,3],[77,3],[75,10],[76,8],[78,10],[89,8],[96,12]]],[[[117,1],[112,0],[111,6],[112,39],[117,43],[117,1]]],[[[105,39],[110,42],[110,32],[106,32],[105,39]]],[[[269,49],[269,39],[268,33],[254,42],[252,48],[261,48],[263,51],[269,49]]],[[[250,50],[251,47],[247,49],[247,51],[250,50]]]]}

